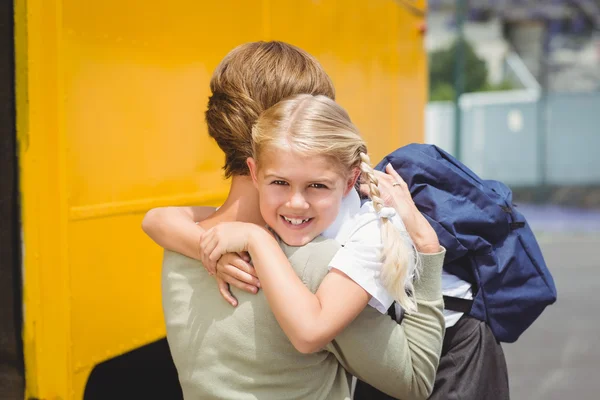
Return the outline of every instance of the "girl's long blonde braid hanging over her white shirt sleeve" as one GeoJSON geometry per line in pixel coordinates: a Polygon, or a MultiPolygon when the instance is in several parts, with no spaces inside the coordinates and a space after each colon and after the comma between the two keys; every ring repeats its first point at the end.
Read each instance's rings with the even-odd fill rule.
{"type": "MultiPolygon", "coordinates": [[[[371,167],[369,156],[360,153],[360,170],[368,182],[373,207],[379,214],[384,207],[378,180],[371,167]]],[[[388,292],[408,313],[417,310],[414,300],[412,274],[415,271],[415,258],[412,256],[412,242],[407,234],[402,234],[390,218],[381,217],[381,239],[383,244],[381,280],[388,292]],[[410,294],[407,293],[407,290],[410,294]]]]}

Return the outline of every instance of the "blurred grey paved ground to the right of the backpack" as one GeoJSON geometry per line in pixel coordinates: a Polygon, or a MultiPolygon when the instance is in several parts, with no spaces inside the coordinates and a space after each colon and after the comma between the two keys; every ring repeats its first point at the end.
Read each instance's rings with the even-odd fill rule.
{"type": "Polygon", "coordinates": [[[520,208],[539,232],[558,301],[504,346],[512,399],[600,399],[600,212],[520,208]]]}

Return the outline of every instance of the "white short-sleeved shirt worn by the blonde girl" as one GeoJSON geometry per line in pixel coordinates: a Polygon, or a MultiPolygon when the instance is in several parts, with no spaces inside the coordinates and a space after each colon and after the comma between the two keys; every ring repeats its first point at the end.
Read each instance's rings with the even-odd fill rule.
{"type": "MultiPolygon", "coordinates": [[[[392,217],[392,223],[400,231],[406,231],[398,215],[392,217]]],[[[383,265],[380,224],[381,219],[373,203],[368,201],[361,207],[358,193],[351,190],[344,197],[335,221],[323,232],[323,236],[335,239],[343,246],[331,260],[329,268],[336,268],[348,275],[372,296],[369,305],[385,314],[394,298],[379,279],[383,265]]],[[[408,240],[407,244],[412,245],[408,240]]],[[[471,284],[446,271],[442,271],[442,293],[463,299],[473,298],[471,284]]],[[[398,311],[396,315],[400,315],[398,311]]],[[[446,327],[456,324],[462,315],[461,312],[444,310],[446,327]]]]}

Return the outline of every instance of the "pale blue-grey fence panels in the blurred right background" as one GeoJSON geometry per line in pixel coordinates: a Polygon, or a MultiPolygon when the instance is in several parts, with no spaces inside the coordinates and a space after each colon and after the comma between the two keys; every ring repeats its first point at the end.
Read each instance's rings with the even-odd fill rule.
{"type": "MultiPolygon", "coordinates": [[[[537,90],[461,97],[461,157],[511,186],[600,184],[600,93],[537,90]]],[[[454,104],[429,103],[425,141],[454,153],[454,104]]]]}

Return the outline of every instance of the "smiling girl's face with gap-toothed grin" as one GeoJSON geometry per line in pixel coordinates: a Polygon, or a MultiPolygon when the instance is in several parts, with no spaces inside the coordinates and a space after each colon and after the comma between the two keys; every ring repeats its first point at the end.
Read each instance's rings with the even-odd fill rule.
{"type": "Polygon", "coordinates": [[[333,223],[358,176],[343,176],[328,158],[290,150],[268,152],[259,166],[249,158],[248,167],[262,217],[290,246],[304,246],[333,223]]]}

